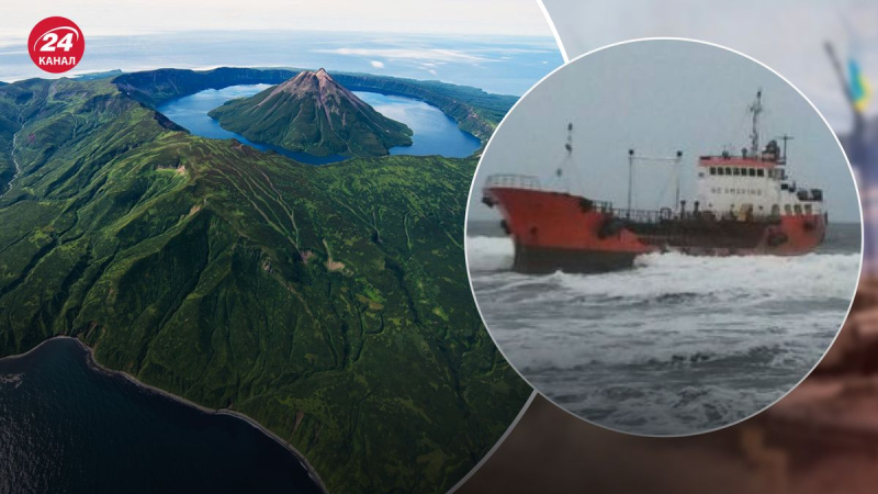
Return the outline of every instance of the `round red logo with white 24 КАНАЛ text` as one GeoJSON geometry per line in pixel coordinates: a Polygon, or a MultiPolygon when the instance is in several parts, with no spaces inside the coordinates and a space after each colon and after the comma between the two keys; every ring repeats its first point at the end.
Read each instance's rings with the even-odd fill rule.
{"type": "Polygon", "coordinates": [[[27,37],[27,53],[37,67],[52,74],[70,70],[82,59],[86,38],[74,21],[46,18],[40,21],[27,37]]]}

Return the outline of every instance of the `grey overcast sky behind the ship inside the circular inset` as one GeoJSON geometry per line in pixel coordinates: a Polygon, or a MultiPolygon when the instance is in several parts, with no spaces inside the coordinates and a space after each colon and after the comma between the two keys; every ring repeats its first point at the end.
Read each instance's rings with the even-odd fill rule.
{"type": "MultiPolygon", "coordinates": [[[[527,173],[543,187],[569,190],[623,206],[627,151],[673,156],[684,151],[682,198],[695,194],[697,157],[738,151],[747,144],[747,106],[764,92],[763,144],[785,133],[790,176],[824,189],[830,217],[856,222],[854,181],[834,135],[799,93],[763,66],[721,48],[676,41],[618,45],[561,68],[531,90],[494,134],[475,178],[481,193],[492,173],[527,173]],[[567,123],[574,154],[566,157],[567,123]],[[561,167],[565,180],[556,181],[561,167]]],[[[674,204],[673,170],[641,165],[634,207],[674,204]]],[[[470,217],[493,212],[471,201],[470,217]]]]}

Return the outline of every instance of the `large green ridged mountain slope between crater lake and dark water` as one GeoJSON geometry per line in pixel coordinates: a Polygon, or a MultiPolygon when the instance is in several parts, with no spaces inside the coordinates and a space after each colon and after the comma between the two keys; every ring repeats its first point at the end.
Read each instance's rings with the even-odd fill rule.
{"type": "Polygon", "coordinates": [[[21,168],[0,195],[0,356],[76,336],[254,417],[331,492],[449,489],[529,394],[466,282],[475,159],[305,166],[182,132],[139,88],[0,88],[0,169],[21,168]]]}

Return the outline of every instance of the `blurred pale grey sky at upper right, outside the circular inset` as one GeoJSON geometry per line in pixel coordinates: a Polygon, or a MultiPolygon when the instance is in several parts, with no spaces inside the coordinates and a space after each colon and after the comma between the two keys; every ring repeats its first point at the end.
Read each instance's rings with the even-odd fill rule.
{"type": "MultiPolygon", "coordinates": [[[[853,54],[878,80],[875,0],[543,0],[570,58],[649,36],[703,40],[751,55],[801,89],[834,128],[849,127],[840,82],[823,44],[853,54]]],[[[878,113],[878,104],[873,104],[878,113]]]]}

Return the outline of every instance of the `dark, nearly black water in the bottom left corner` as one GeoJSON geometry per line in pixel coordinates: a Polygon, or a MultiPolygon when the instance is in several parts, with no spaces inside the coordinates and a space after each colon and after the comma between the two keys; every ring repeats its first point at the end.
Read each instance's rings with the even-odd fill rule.
{"type": "Polygon", "coordinates": [[[318,493],[293,453],[90,366],[71,339],[0,360],[0,493],[318,493]]]}

